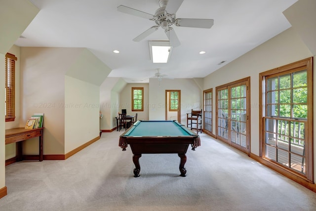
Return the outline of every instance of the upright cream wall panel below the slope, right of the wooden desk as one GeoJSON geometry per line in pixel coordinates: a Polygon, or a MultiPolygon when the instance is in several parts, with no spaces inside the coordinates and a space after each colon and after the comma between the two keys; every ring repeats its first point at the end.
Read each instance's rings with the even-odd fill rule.
{"type": "Polygon", "coordinates": [[[65,76],[65,154],[99,135],[99,97],[99,86],[65,76]]]}

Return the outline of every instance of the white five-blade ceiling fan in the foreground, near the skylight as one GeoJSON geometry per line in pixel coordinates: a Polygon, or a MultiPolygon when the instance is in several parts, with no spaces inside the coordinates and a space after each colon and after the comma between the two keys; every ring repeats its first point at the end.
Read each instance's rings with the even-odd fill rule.
{"type": "Polygon", "coordinates": [[[192,19],[192,18],[177,18],[176,19],[176,12],[178,11],[180,5],[182,4],[183,0],[159,0],[159,6],[155,12],[155,15],[133,9],[124,5],[118,6],[118,11],[124,12],[130,15],[135,15],[138,17],[146,18],[156,22],[156,26],[153,26],[137,36],[133,39],[135,42],[139,42],[144,38],[151,35],[153,32],[158,30],[161,26],[166,33],[169,42],[172,46],[176,47],[180,45],[180,41],[174,32],[173,28],[171,27],[173,24],[178,27],[194,27],[194,28],[206,28],[209,29],[213,26],[214,20],[213,19],[192,19]]]}

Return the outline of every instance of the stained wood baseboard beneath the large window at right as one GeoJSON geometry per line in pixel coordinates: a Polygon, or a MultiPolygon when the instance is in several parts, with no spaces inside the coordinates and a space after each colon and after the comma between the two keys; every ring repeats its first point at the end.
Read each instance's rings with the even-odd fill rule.
{"type": "Polygon", "coordinates": [[[310,189],[311,191],[316,192],[316,184],[309,181],[308,179],[306,179],[302,176],[296,175],[296,174],[288,171],[287,169],[281,168],[281,167],[269,162],[268,160],[266,160],[264,158],[261,158],[261,157],[255,155],[255,154],[250,153],[250,158],[258,161],[259,163],[261,163],[267,167],[269,167],[270,169],[275,170],[276,172],[278,172],[278,173],[282,174],[283,176],[293,180],[294,182],[299,183],[300,185],[310,189]]]}

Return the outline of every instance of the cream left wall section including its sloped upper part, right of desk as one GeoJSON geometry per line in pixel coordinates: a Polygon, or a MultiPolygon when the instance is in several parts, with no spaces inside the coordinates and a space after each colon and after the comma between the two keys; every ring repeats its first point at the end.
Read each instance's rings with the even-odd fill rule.
{"type": "Polygon", "coordinates": [[[65,76],[65,154],[99,138],[100,85],[111,69],[82,48],[65,76]]]}

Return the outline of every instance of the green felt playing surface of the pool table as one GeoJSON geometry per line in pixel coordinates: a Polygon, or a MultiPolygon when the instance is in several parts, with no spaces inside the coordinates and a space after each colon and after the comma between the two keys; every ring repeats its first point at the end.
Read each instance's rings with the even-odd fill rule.
{"type": "Polygon", "coordinates": [[[124,136],[188,136],[197,135],[177,121],[138,121],[124,136]]]}

